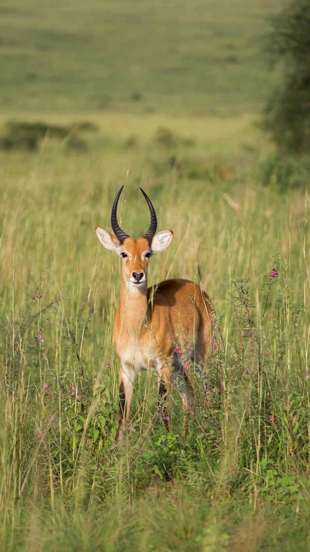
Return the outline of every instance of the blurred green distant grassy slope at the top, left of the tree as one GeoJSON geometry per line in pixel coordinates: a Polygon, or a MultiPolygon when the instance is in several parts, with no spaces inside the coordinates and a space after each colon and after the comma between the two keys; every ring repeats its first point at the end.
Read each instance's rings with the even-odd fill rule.
{"type": "Polygon", "coordinates": [[[270,81],[261,35],[277,8],[253,0],[4,0],[1,109],[257,112],[270,81]]]}

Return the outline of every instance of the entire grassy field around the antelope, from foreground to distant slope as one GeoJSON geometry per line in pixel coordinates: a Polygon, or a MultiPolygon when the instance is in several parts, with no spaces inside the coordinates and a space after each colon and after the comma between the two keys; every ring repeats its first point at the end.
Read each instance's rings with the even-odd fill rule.
{"type": "Polygon", "coordinates": [[[262,124],[283,5],[1,3],[2,550],[309,549],[310,164],[262,124]],[[126,232],[139,186],[174,232],[150,284],[201,283],[216,327],[189,436],[141,374],[115,446],[122,183],[126,232]]]}

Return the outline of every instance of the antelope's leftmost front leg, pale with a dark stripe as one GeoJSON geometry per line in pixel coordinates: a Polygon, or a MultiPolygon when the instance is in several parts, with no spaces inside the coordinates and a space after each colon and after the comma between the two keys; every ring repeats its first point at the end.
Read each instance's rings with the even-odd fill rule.
{"type": "Polygon", "coordinates": [[[127,363],[123,363],[120,369],[120,388],[119,388],[119,429],[117,429],[116,440],[119,440],[124,433],[125,422],[130,414],[130,405],[132,401],[133,386],[137,376],[136,369],[127,363]]]}

